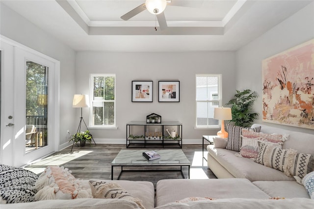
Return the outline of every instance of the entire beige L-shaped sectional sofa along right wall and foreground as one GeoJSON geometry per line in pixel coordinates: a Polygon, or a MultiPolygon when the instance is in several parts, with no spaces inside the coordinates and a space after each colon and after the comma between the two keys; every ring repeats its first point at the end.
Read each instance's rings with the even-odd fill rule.
{"type": "MultiPolygon", "coordinates": [[[[312,134],[285,131],[259,124],[252,126],[252,128],[256,127],[261,127],[261,131],[267,133],[288,133],[289,138],[286,138],[286,141],[283,142],[282,148],[293,148],[298,152],[314,154],[314,135],[312,134]]],[[[234,135],[234,133],[232,134],[234,135]]],[[[217,148],[215,145],[218,147],[217,144],[208,146],[208,166],[219,179],[160,180],[157,182],[155,190],[151,182],[76,180],[66,168],[48,167],[39,179],[30,173],[21,171],[23,175],[20,176],[27,177],[27,182],[37,189],[37,193],[34,196],[35,199],[37,198],[37,201],[3,204],[0,205],[0,208],[314,208],[314,200],[310,197],[310,194],[312,194],[312,198],[314,198],[314,189],[312,193],[308,191],[305,186],[302,185],[300,179],[288,177],[284,172],[257,163],[252,159],[239,157],[238,154],[240,152],[226,148],[217,148]],[[59,177],[57,177],[55,173],[59,171],[62,175],[58,175],[59,177]],[[63,178],[61,184],[59,184],[57,180],[60,177],[61,179],[63,178]],[[34,180],[31,181],[29,178],[34,178],[34,180]],[[296,180],[298,180],[299,183],[297,183],[296,180]],[[71,186],[75,186],[74,191],[70,192],[70,194],[64,194],[61,188],[66,185],[67,182],[69,182],[70,185],[69,189],[71,189],[71,186]],[[53,200],[45,200],[49,198],[53,200]]],[[[227,145],[224,146],[226,147],[227,145]]],[[[8,169],[9,168],[2,169],[2,171],[5,170],[7,173],[8,169]]],[[[2,173],[0,169],[0,178],[2,173]]],[[[312,175],[312,183],[314,184],[314,172],[310,172],[308,175],[312,175]]],[[[0,202],[4,203],[5,201],[0,199],[0,202]]]]}

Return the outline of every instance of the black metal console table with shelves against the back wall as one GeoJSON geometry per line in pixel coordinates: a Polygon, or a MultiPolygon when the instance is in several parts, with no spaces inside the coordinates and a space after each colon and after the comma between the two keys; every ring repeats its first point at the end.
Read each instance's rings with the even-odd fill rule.
{"type": "Polygon", "coordinates": [[[182,123],[180,122],[130,122],[127,123],[127,148],[182,148],[182,123]],[[133,136],[132,128],[142,127],[141,135],[133,136]],[[176,137],[169,136],[166,131],[175,130],[176,137]],[[156,131],[160,130],[160,131],[156,131]]]}

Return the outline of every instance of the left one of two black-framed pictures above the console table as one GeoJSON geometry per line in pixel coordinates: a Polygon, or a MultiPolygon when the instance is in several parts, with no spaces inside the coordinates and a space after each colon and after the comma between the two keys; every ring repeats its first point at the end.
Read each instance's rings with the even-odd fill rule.
{"type": "Polygon", "coordinates": [[[153,102],[153,81],[132,81],[132,102],[153,102]]]}

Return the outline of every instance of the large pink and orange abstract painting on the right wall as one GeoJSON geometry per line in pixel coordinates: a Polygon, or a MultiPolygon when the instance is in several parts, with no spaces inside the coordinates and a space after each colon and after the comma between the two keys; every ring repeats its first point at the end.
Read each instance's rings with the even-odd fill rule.
{"type": "Polygon", "coordinates": [[[314,39],[262,60],[262,121],[314,129],[314,39]]]}

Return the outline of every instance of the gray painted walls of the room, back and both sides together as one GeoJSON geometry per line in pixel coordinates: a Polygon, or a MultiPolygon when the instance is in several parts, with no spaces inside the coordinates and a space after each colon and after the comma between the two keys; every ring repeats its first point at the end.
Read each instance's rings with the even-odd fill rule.
{"type": "MultiPolygon", "coordinates": [[[[195,126],[195,74],[222,74],[223,104],[235,93],[235,88],[250,88],[259,94],[255,110],[262,113],[261,61],[278,52],[314,38],[314,3],[288,20],[275,26],[238,52],[74,52],[71,48],[45,33],[37,26],[1,3],[1,34],[42,52],[61,63],[60,78],[60,144],[67,141],[66,130],[74,133],[80,116],[72,108],[76,93],[89,94],[90,73],[115,73],[117,93],[118,130],[93,130],[98,141],[125,138],[126,123],[143,121],[155,112],[163,121],[183,123],[183,142],[201,142],[201,135],[215,134],[217,130],[194,130],[195,126]],[[236,79],[235,79],[236,78],[236,79]],[[131,102],[131,81],[154,81],[153,103],[131,102]],[[158,80],[180,80],[180,103],[158,103],[158,80]]],[[[83,109],[88,123],[88,109],[83,109]]],[[[261,122],[259,120],[258,122],[261,122]]],[[[279,126],[268,124],[271,126],[279,126]]],[[[288,126],[281,128],[303,132],[313,130],[288,126]]],[[[111,140],[112,141],[112,140],[111,140]]]]}

